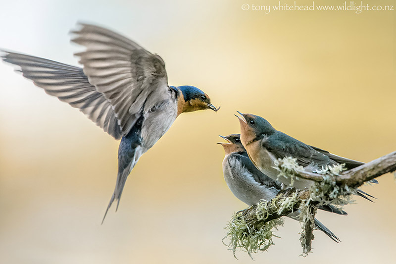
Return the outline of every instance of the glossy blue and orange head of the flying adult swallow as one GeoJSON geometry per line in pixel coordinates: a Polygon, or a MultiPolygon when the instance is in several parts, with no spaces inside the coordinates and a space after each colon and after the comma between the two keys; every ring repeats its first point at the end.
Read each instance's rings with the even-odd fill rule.
{"type": "Polygon", "coordinates": [[[210,98],[207,94],[194,86],[183,85],[172,88],[180,91],[180,99],[178,102],[178,112],[193,112],[197,110],[212,109],[218,111],[220,106],[216,108],[210,103],[210,98]]]}

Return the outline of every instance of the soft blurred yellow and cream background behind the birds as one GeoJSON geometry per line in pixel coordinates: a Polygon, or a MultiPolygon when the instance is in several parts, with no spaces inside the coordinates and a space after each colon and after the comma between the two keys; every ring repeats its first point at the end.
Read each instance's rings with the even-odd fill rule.
{"type": "MultiPolygon", "coordinates": [[[[315,4],[326,2],[344,1],[315,4]]],[[[222,108],[181,115],[100,225],[118,142],[0,63],[0,263],[252,263],[221,242],[246,207],[224,182],[215,144],[239,131],[235,110],[348,158],[396,150],[395,11],[265,14],[244,3],[278,1],[0,1],[0,47],[77,65],[68,31],[98,23],[160,54],[171,85],[198,86],[222,108]]],[[[299,224],[286,219],[256,262],[393,263],[396,183],[379,181],[363,188],[375,203],[357,198],[348,216],[319,212],[342,243],[316,231],[313,253],[298,257],[299,224]]]]}

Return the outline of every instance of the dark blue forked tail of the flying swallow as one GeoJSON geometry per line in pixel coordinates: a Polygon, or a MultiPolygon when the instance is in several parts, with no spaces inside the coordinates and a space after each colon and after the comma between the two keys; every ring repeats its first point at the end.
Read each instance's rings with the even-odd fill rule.
{"type": "Polygon", "coordinates": [[[144,153],[141,144],[140,131],[142,127],[143,117],[139,118],[134,127],[131,129],[126,137],[123,137],[118,148],[118,175],[117,182],[115,184],[114,193],[111,196],[110,202],[108,203],[106,212],[104,213],[102,224],[104,218],[106,217],[107,211],[111,207],[114,201],[117,201],[117,207],[120,204],[120,198],[122,190],[124,189],[125,182],[129,173],[135,167],[139,158],[144,153]]]}

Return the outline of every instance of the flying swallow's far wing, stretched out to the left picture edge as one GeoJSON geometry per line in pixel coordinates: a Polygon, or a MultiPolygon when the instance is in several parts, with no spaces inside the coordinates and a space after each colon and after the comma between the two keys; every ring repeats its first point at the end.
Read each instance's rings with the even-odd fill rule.
{"type": "Polygon", "coordinates": [[[88,81],[82,68],[7,51],[3,51],[2,59],[18,65],[17,71],[47,94],[80,109],[104,132],[115,139],[121,138],[121,128],[110,102],[88,81]]]}

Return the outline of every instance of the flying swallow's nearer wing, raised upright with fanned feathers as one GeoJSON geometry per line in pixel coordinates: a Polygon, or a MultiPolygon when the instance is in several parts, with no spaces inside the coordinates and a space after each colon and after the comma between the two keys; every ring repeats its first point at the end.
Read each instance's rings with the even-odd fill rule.
{"type": "Polygon", "coordinates": [[[126,136],[143,112],[169,100],[165,63],[156,54],[108,29],[80,24],[72,42],[86,51],[76,53],[84,73],[110,102],[126,136]]]}

